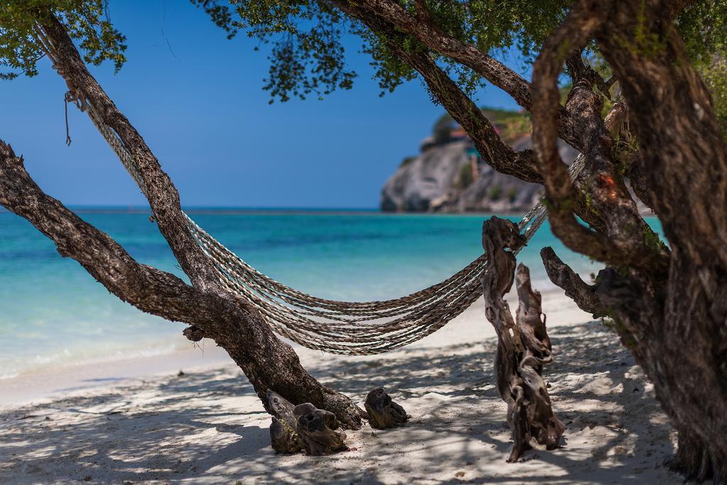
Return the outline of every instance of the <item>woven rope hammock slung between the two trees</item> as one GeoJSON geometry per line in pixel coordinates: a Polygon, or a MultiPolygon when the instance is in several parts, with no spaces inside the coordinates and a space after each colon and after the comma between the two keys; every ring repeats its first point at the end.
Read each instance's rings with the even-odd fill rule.
{"type": "MultiPolygon", "coordinates": [[[[41,42],[58,69],[55,50],[39,32],[41,42]]],[[[59,73],[63,76],[63,73],[59,73]]],[[[119,156],[129,175],[147,195],[134,158],[113,128],[82,92],[66,99],[88,113],[98,131],[119,156]]],[[[569,172],[574,178],[585,164],[579,155],[569,172]]],[[[518,223],[529,241],[545,221],[547,212],[539,201],[518,223]]],[[[241,257],[200,228],[185,214],[190,233],[217,268],[220,282],[232,294],[260,311],[275,332],[307,348],[347,355],[387,352],[421,340],[441,329],[482,295],[481,277],[486,255],[478,257],[441,283],[394,300],[343,302],[300,292],[252,268],[241,257]]]]}

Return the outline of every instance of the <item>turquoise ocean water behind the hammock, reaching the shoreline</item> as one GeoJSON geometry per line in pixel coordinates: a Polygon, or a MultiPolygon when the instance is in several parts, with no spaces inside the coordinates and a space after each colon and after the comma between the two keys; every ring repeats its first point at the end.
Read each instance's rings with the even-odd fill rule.
{"type": "MultiPolygon", "coordinates": [[[[409,294],[481,254],[483,215],[190,210],[202,228],[269,276],[335,300],[409,294]]],[[[148,213],[79,209],[140,262],[183,277],[148,213]]],[[[518,220],[518,217],[511,217],[518,220]]],[[[523,249],[535,286],[553,289],[539,249],[553,246],[580,273],[601,267],[567,250],[547,224],[523,249]]],[[[189,346],[182,324],[121,302],[64,259],[27,221],[0,212],[0,379],[47,366],[168,353],[189,346]]]]}

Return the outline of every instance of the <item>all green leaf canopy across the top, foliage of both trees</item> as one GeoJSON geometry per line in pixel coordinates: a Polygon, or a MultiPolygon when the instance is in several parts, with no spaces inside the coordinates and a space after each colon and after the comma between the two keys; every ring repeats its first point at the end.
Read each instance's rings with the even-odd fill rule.
{"type": "MultiPolygon", "coordinates": [[[[270,68],[263,89],[273,100],[324,97],[350,89],[357,76],[346,63],[347,49],[369,54],[374,79],[382,94],[392,92],[417,73],[386,47],[385,34],[372,32],[328,1],[322,0],[190,0],[222,28],[229,39],[244,33],[270,47],[270,68]]],[[[413,0],[398,0],[414,12],[413,0]]],[[[573,0],[429,0],[438,28],[482,52],[517,53],[524,65],[534,61],[542,42],[561,23],[573,0]]],[[[44,52],[36,40],[35,23],[56,15],[84,52],[87,63],[105,60],[116,71],[126,61],[125,37],[113,27],[107,0],[0,0],[0,76],[36,75],[44,52]]],[[[677,19],[688,52],[715,97],[718,113],[727,119],[727,1],[698,0],[677,19]]],[[[403,36],[405,49],[425,49],[403,36]]],[[[259,47],[255,47],[258,49],[259,47]]],[[[467,93],[483,86],[477,73],[448,57],[429,52],[438,65],[467,93]]],[[[600,59],[595,47],[590,54],[600,59]]]]}

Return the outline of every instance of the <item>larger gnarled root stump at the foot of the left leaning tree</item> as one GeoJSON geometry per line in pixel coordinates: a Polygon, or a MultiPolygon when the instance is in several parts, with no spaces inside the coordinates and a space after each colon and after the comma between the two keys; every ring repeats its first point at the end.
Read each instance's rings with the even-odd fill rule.
{"type": "Polygon", "coordinates": [[[270,445],[278,453],[304,451],[313,456],[332,454],[346,449],[346,434],[337,428],[336,415],[310,403],[293,406],[278,393],[268,390],[268,403],[273,414],[270,423],[270,445]]]}

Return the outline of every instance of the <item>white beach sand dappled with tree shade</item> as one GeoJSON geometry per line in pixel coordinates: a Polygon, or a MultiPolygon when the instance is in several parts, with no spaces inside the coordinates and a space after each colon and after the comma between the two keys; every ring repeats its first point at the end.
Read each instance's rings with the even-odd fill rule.
{"type": "Polygon", "coordinates": [[[545,300],[555,354],[545,374],[567,426],[560,449],[505,462],[510,431],[494,388],[494,332],[475,305],[422,342],[382,356],[297,349],[326,384],[358,402],[382,385],[413,416],[405,428],[347,432],[348,452],[276,455],[252,386],[233,364],[212,360],[180,377],[118,379],[6,406],[0,483],[681,483],[663,466],[672,430],[630,354],[600,322],[578,324],[587,314],[562,296],[545,300]]]}

